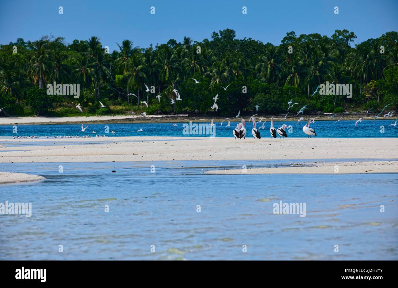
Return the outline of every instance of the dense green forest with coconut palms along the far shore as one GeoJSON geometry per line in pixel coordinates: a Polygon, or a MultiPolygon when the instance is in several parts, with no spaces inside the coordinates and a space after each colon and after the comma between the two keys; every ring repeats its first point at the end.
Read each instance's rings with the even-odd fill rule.
{"type": "Polygon", "coordinates": [[[127,111],[236,115],[239,110],[254,110],[255,105],[259,112],[271,114],[285,112],[292,98],[299,103],[292,112],[306,104],[305,112],[371,108],[376,112],[392,102],[390,107],[398,108],[398,33],[387,32],[353,47],[355,38],[347,30],[336,30],[331,37],[318,33],[297,37],[292,31],[279,46],[273,46],[251,38],[236,39],[235,31],[225,29],[213,32],[211,40],[184,37],[182,43],[170,39],[148,48],[121,40],[119,50],[112,53],[96,36],[70,44],[62,37],[45,36],[33,42],[18,38],[16,43],[0,46],[0,108],[7,107],[0,116],[127,111]],[[80,84],[80,97],[47,95],[47,84],[54,81],[80,84]],[[326,81],[353,84],[353,97],[312,96],[326,81]],[[154,86],[155,93],[146,92],[144,84],[154,86]],[[170,104],[176,98],[174,89],[182,101],[170,104]],[[211,107],[217,93],[216,111],[211,107]],[[100,108],[99,101],[106,107],[100,108]],[[78,103],[83,112],[76,108],[78,103]]]}

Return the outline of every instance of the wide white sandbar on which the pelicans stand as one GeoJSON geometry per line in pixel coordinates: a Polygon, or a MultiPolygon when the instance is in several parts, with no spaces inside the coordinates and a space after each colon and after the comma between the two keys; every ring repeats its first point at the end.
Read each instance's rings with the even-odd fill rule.
{"type": "Polygon", "coordinates": [[[232,137],[102,137],[95,139],[11,138],[7,139],[7,141],[0,140],[0,142],[3,145],[3,147],[0,147],[0,163],[158,160],[398,159],[398,140],[396,138],[308,139],[289,137],[285,139],[261,138],[239,140],[232,137]],[[13,143],[21,144],[26,142],[27,144],[32,144],[42,143],[44,141],[51,143],[51,145],[13,145],[13,143]],[[59,145],[73,142],[81,144],[59,145]],[[91,144],[89,144],[89,142],[91,142],[91,144]],[[96,142],[98,142],[98,144],[96,142]],[[57,143],[58,145],[53,145],[53,143],[57,143]]]}

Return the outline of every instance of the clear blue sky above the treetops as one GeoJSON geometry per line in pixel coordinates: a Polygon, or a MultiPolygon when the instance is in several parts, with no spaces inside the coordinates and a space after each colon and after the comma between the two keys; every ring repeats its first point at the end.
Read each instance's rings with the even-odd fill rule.
{"type": "Polygon", "coordinates": [[[50,33],[67,43],[95,35],[112,51],[123,39],[143,48],[170,38],[181,42],[184,36],[210,39],[213,31],[226,28],[239,39],[275,45],[289,31],[330,36],[348,29],[360,43],[398,31],[397,15],[398,0],[0,0],[0,44],[50,33]]]}

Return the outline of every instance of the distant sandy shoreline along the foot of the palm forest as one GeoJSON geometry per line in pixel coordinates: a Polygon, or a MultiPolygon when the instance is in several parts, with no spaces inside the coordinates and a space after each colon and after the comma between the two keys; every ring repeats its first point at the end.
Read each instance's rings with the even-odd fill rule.
{"type": "MultiPolygon", "coordinates": [[[[265,118],[269,120],[271,116],[274,117],[275,120],[279,121],[281,118],[285,117],[285,114],[262,114],[262,113],[254,113],[253,114],[245,114],[236,118],[235,116],[212,116],[207,114],[189,114],[188,116],[178,116],[177,115],[148,115],[147,118],[141,115],[112,115],[112,116],[78,116],[78,117],[1,117],[0,125],[14,125],[14,124],[43,124],[43,125],[51,125],[51,124],[74,124],[74,123],[86,123],[86,124],[123,124],[123,123],[185,123],[185,122],[211,122],[214,120],[215,122],[221,122],[225,118],[230,118],[231,122],[240,121],[241,118],[249,118],[253,114],[258,114],[256,116],[256,120],[260,118],[265,118]]],[[[362,118],[362,120],[374,120],[377,114],[367,114],[367,113],[314,113],[314,114],[304,114],[303,116],[294,114],[289,114],[285,121],[297,121],[300,117],[304,119],[308,118],[316,118],[316,120],[331,120],[330,117],[336,114],[333,120],[338,120],[340,117],[341,120],[358,120],[362,118]]],[[[382,118],[378,117],[377,120],[395,120],[395,117],[392,118],[382,118]]]]}

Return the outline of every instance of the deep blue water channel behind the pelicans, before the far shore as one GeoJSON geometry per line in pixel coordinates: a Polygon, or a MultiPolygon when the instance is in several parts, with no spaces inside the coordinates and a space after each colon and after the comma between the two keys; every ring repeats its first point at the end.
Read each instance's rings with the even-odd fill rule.
{"type": "MultiPolygon", "coordinates": [[[[197,122],[199,124],[199,122],[197,122]]],[[[202,124],[209,124],[203,123],[202,124]]],[[[238,122],[231,122],[230,127],[224,122],[220,127],[220,122],[215,122],[215,136],[217,137],[232,137],[232,130],[236,127],[238,122]]],[[[398,137],[398,125],[389,126],[393,120],[363,120],[355,127],[355,120],[340,120],[337,123],[334,121],[316,121],[310,127],[314,128],[317,137],[337,137],[337,138],[362,138],[362,137],[398,137]],[[384,126],[384,130],[381,126],[384,126]],[[384,133],[380,132],[384,131],[384,133]]],[[[189,123],[187,123],[189,125],[189,123]]],[[[292,121],[275,121],[274,127],[278,128],[286,124],[293,126],[291,131],[287,131],[289,137],[308,137],[302,132],[302,127],[306,124],[305,121],[297,122],[292,121]]],[[[176,136],[176,137],[203,137],[209,135],[192,135],[183,133],[183,123],[177,123],[178,126],[174,127],[173,123],[142,123],[142,124],[85,124],[88,126],[86,132],[80,132],[81,124],[55,124],[55,125],[16,125],[18,133],[13,133],[13,125],[1,125],[0,136],[63,136],[63,135],[108,135],[108,136],[176,136]],[[109,126],[109,133],[105,133],[105,126],[109,126]],[[137,130],[142,128],[142,132],[137,130]],[[91,133],[92,131],[96,133],[91,133]],[[116,133],[112,135],[110,131],[116,133]]],[[[259,128],[262,123],[257,124],[259,128]]],[[[263,137],[270,137],[269,135],[270,122],[265,123],[265,128],[259,129],[263,137]]],[[[251,130],[252,123],[246,123],[248,130],[248,137],[252,137],[251,130]]]]}

